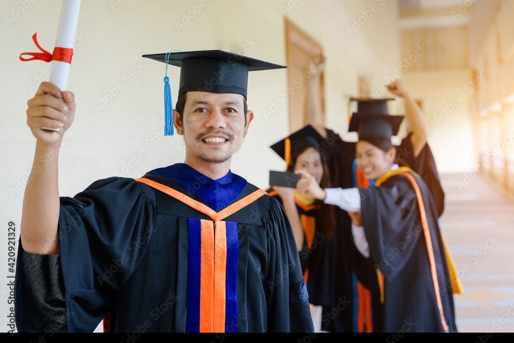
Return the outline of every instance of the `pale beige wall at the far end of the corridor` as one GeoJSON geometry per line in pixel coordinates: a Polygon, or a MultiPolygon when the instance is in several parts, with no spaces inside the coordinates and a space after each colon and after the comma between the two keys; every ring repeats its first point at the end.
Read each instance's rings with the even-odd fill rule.
{"type": "MultiPolygon", "coordinates": [[[[436,14],[449,15],[452,10],[455,9],[439,10],[436,14]]],[[[430,127],[428,140],[439,172],[472,169],[473,126],[469,101],[474,94],[474,83],[468,67],[467,27],[405,30],[400,37],[401,57],[409,61],[405,83],[412,96],[422,103],[430,127]],[[423,49],[419,50],[419,46],[423,49]]]]}

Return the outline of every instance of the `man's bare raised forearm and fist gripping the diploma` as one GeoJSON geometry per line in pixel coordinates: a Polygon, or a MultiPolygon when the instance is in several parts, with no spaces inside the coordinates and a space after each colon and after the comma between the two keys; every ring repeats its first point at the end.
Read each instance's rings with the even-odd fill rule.
{"type": "Polygon", "coordinates": [[[23,198],[20,238],[27,252],[58,254],[58,156],[64,133],[75,117],[75,96],[43,82],[27,105],[27,125],[37,140],[31,177],[23,198]],[[60,131],[45,131],[42,127],[60,131]]]}

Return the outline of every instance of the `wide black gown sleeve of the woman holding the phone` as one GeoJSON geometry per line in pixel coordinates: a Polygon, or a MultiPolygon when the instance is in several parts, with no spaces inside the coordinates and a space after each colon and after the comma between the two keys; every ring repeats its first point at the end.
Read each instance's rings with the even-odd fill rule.
{"type": "Polygon", "coordinates": [[[386,279],[393,279],[423,237],[423,229],[417,225],[420,219],[416,194],[404,176],[392,176],[380,187],[359,191],[370,257],[386,279]]]}

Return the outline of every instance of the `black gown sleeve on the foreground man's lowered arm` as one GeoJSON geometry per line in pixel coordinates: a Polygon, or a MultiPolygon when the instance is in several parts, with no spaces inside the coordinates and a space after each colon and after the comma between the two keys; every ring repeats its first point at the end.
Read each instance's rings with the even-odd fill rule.
{"type": "Polygon", "coordinates": [[[268,232],[268,332],[314,332],[307,287],[292,229],[282,206],[270,197],[268,232]]]}

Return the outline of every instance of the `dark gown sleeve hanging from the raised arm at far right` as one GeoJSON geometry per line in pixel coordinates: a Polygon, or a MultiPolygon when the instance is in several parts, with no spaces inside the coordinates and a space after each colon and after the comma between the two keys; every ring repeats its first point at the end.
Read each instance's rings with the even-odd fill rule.
{"type": "Polygon", "coordinates": [[[432,193],[437,212],[440,216],[443,214],[445,207],[445,192],[439,180],[434,155],[428,143],[426,143],[419,155],[414,156],[411,135],[412,133],[402,139],[397,149],[396,158],[400,165],[409,167],[423,179],[430,193],[432,193]]]}

